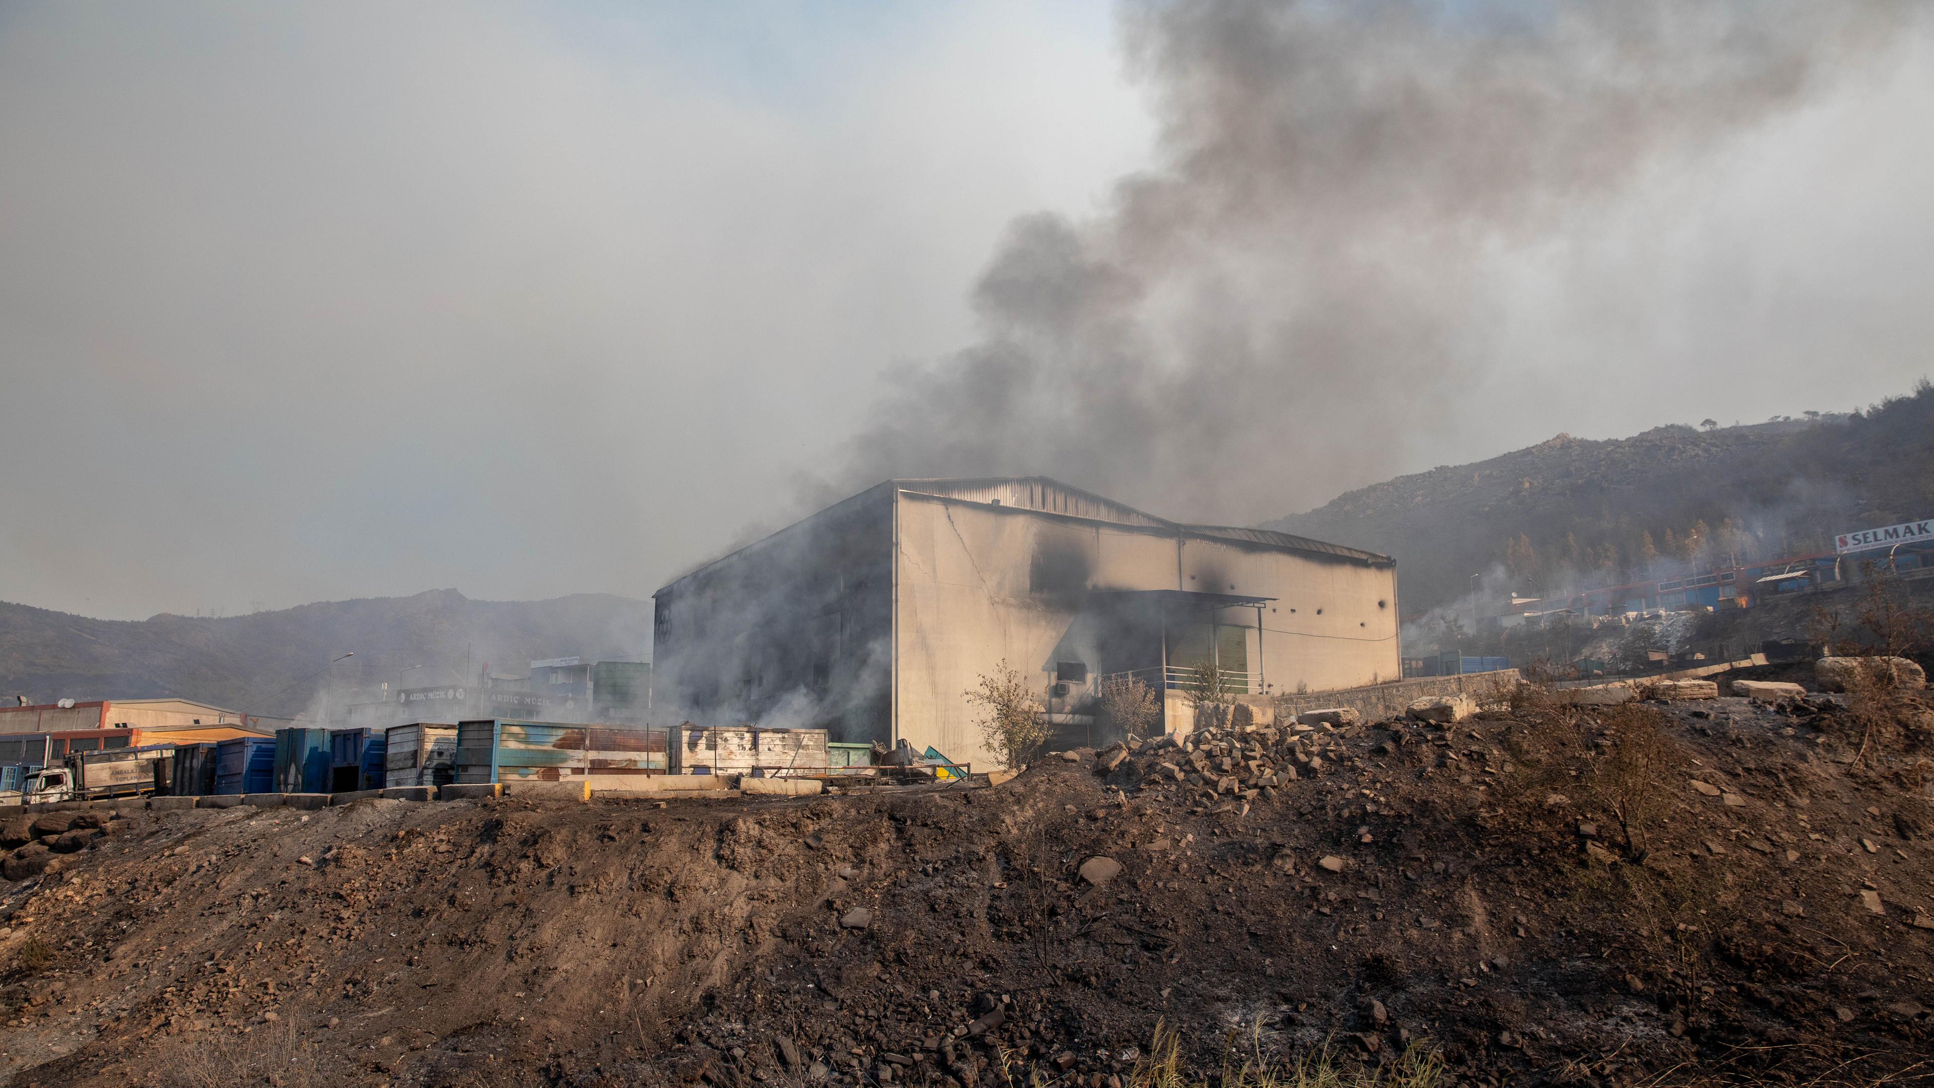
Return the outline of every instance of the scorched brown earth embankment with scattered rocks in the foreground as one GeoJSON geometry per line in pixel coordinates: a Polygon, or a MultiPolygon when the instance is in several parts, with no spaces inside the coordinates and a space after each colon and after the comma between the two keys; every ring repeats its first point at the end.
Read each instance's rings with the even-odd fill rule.
{"type": "Polygon", "coordinates": [[[1195,1074],[1855,1082],[1934,1005],[1934,765],[1868,734],[1524,699],[994,790],[135,815],[0,896],[0,1045],[48,1088],[1100,1088],[1164,1024],[1195,1074]]]}

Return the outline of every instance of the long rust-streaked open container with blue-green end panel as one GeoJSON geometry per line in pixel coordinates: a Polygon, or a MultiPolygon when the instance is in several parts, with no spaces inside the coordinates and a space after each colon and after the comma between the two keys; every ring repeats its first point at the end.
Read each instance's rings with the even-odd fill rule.
{"type": "Polygon", "coordinates": [[[559,782],[584,774],[663,774],[665,730],[514,722],[456,724],[458,782],[559,782]]]}

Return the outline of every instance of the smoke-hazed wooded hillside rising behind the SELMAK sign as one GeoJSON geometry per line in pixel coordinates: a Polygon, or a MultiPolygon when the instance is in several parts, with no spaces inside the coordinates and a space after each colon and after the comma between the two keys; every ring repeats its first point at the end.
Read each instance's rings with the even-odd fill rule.
{"type": "Polygon", "coordinates": [[[1396,558],[1406,616],[1472,590],[1538,592],[1675,561],[1831,552],[1831,534],[1934,515],[1934,387],[1866,412],[1756,426],[1557,436],[1265,525],[1396,558]]]}

